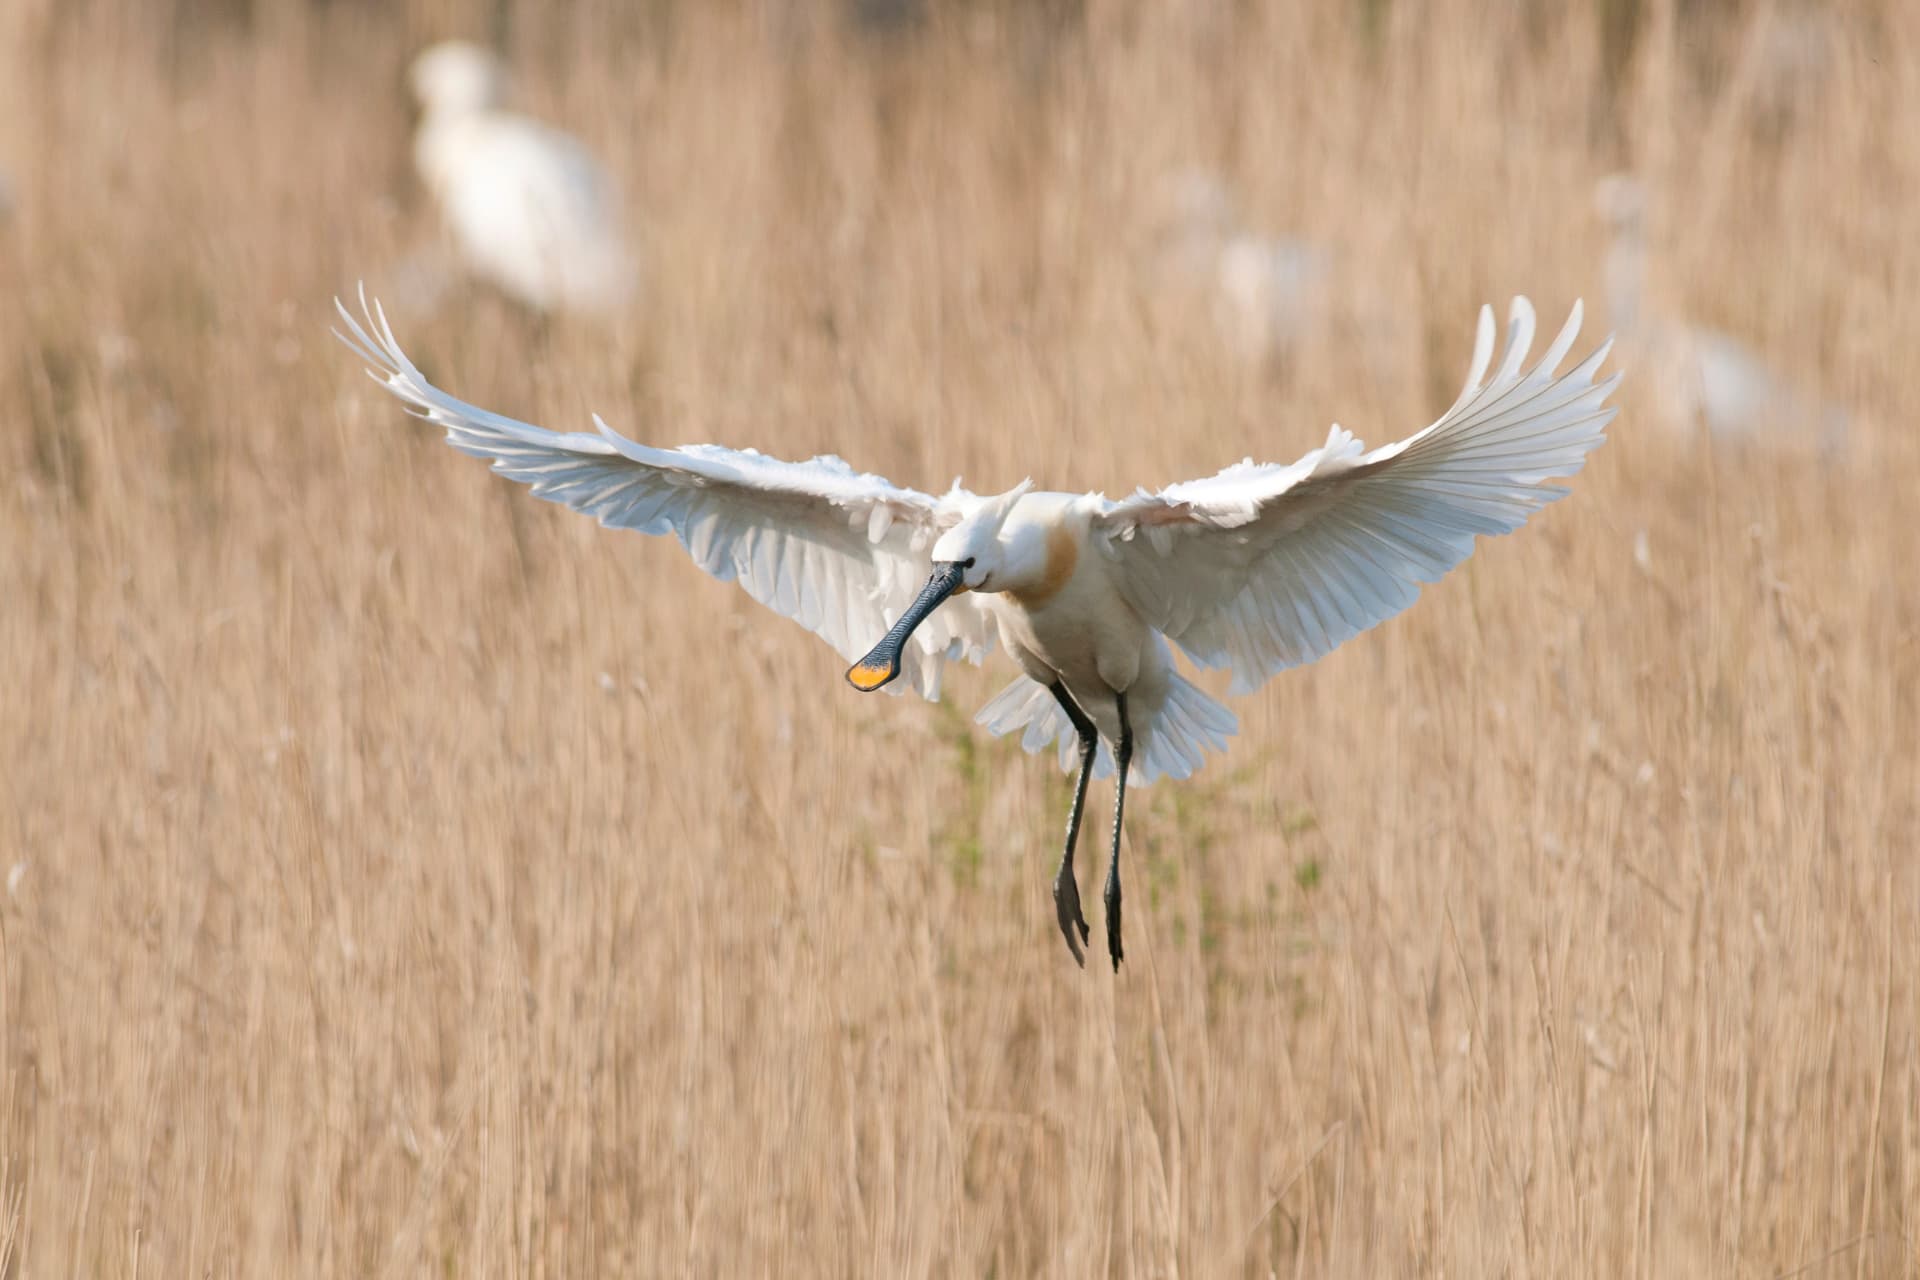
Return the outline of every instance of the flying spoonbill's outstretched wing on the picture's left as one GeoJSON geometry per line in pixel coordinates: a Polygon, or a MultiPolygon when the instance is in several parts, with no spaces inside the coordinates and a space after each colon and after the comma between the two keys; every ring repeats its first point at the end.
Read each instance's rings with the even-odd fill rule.
{"type": "MultiPolygon", "coordinates": [[[[960,520],[960,489],[935,499],[854,472],[837,457],[781,462],[753,449],[649,449],[595,415],[593,432],[549,432],[488,413],[432,386],[399,349],[378,303],[365,324],[334,303],[338,334],[369,374],[447,443],[609,528],[672,533],[693,562],[803,628],[852,662],[912,604],[931,572],[927,551],[960,520]]],[[[937,699],[948,658],[979,662],[993,624],[970,597],[947,601],[914,631],[902,676],[937,699]]]]}

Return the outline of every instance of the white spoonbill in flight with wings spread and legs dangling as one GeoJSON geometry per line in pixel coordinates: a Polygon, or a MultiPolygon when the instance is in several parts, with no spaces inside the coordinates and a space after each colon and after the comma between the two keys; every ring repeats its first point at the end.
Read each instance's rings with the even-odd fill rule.
{"type": "Polygon", "coordinates": [[[1476,535],[1507,533],[1565,493],[1542,482],[1580,470],[1613,418],[1605,399],[1619,382],[1594,380],[1607,345],[1557,372],[1580,330],[1578,303],[1526,367],[1534,309],[1517,297],[1500,363],[1494,315],[1482,309],[1459,399],[1384,449],[1367,453],[1334,426],[1288,466],[1246,461],[1117,503],[1041,493],[1031,482],[993,497],[956,484],[931,497],[837,457],[653,449],[599,416],[591,432],[516,422],[432,386],[378,303],[369,309],[363,294],[361,309],[365,324],[340,305],[351,332],[340,338],[455,449],[611,528],[676,535],[703,570],[739,581],[852,660],[854,689],[906,676],[937,699],[945,662],[979,662],[998,639],[1021,674],[979,723],[1021,731],[1029,752],[1058,745],[1062,768],[1077,748],[1054,908],[1083,965],[1073,842],[1087,781],[1117,764],[1106,873],[1116,971],[1129,777],[1187,777],[1236,731],[1233,712],[1181,677],[1167,641],[1204,668],[1231,670],[1233,691],[1246,693],[1392,618],[1421,583],[1465,560],[1476,535]]]}

